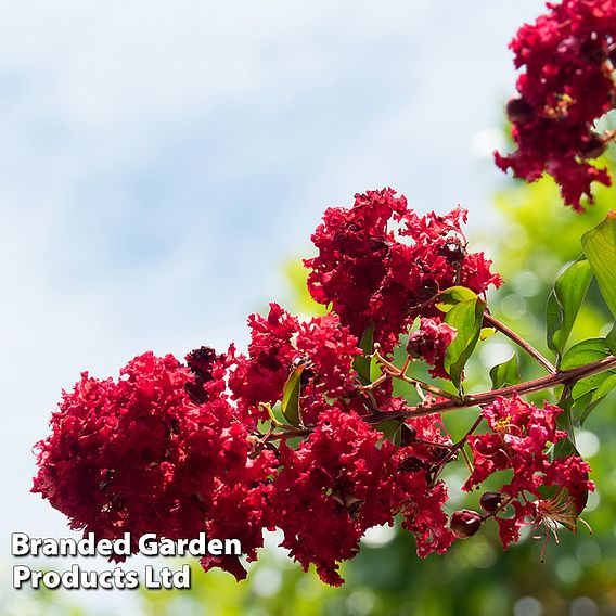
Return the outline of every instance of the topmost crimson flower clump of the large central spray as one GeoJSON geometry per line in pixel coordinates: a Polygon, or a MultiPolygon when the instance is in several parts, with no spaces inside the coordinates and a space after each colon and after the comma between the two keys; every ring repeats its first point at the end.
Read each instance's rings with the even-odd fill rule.
{"type": "Polygon", "coordinates": [[[484,293],[501,279],[482,253],[466,253],[460,207],[446,216],[418,216],[392,189],[357,194],[350,209],[325,210],[312,235],[319,255],[306,259],[308,288],[332,305],[341,322],[361,338],[374,326],[386,352],[419,317],[439,318],[439,291],[461,284],[484,293]]]}

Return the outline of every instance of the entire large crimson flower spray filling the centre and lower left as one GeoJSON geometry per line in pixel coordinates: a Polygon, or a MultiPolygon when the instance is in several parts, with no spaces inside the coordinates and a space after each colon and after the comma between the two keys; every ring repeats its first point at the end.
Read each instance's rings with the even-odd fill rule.
{"type": "MultiPolygon", "coordinates": [[[[307,265],[312,294],[333,312],[301,320],[271,304],[266,317],[248,319],[247,355],[233,345],[222,355],[201,347],[183,365],[146,352],[117,381],[84,373],[63,394],[51,436],[37,444],[33,491],[73,528],[98,538],[129,531],[133,549],[145,532],[190,539],[205,531],[239,539],[255,560],[264,530],[279,527],[281,544],[304,569],[316,565],[334,586],[363,534],[398,514],[420,556],[476,532],[479,514],[464,510],[450,521],[444,512],[440,475],[460,444],[437,412],[419,416],[451,395],[405,372],[421,358],[433,376],[447,377],[444,358],[455,331],[436,309],[440,290],[461,284],[483,293],[500,284],[480,253],[466,253],[464,216],[458,208],[419,217],[392,190],[328,210],[313,235],[319,256],[307,265]],[[359,348],[359,336],[374,326],[375,342],[393,351],[418,316],[405,370],[396,373],[377,349],[359,348]],[[420,387],[416,416],[394,395],[394,376],[420,387]]],[[[499,398],[483,411],[491,433],[469,436],[475,470],[466,489],[513,470],[496,500],[484,499],[485,506],[497,503],[505,547],[527,519],[575,524],[592,486],[580,459],[551,461],[546,452],[564,436],[559,412],[499,398]],[[551,499],[540,498],[541,485],[554,487],[551,499]],[[515,515],[505,517],[501,503],[515,515]]],[[[246,575],[236,556],[201,564],[246,575]]]]}

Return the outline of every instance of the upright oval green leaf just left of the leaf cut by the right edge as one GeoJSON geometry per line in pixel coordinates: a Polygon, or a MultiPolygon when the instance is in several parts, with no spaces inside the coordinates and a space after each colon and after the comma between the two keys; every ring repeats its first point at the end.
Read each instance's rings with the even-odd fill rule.
{"type": "Polygon", "coordinates": [[[569,266],[554,283],[548,298],[547,324],[548,346],[560,360],[572,333],[577,313],[583,301],[590,281],[592,268],[585,259],[569,266]]]}

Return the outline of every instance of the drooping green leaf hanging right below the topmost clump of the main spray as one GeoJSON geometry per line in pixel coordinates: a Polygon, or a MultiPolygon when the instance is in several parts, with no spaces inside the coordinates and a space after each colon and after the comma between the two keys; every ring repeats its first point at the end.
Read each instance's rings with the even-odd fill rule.
{"type": "Polygon", "coordinates": [[[485,306],[484,301],[475,296],[473,299],[455,304],[445,317],[445,322],[455,328],[455,337],[445,354],[445,370],[458,389],[460,389],[464,364],[479,339],[485,306]]]}

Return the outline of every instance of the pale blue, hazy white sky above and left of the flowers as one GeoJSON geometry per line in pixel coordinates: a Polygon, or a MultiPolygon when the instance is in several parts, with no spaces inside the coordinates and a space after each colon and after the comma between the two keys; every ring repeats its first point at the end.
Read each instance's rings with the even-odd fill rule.
{"type": "Polygon", "coordinates": [[[242,346],[356,192],[487,232],[506,43],[541,8],[0,0],[2,563],[12,531],[67,534],[30,449],[82,370],[242,346]]]}

